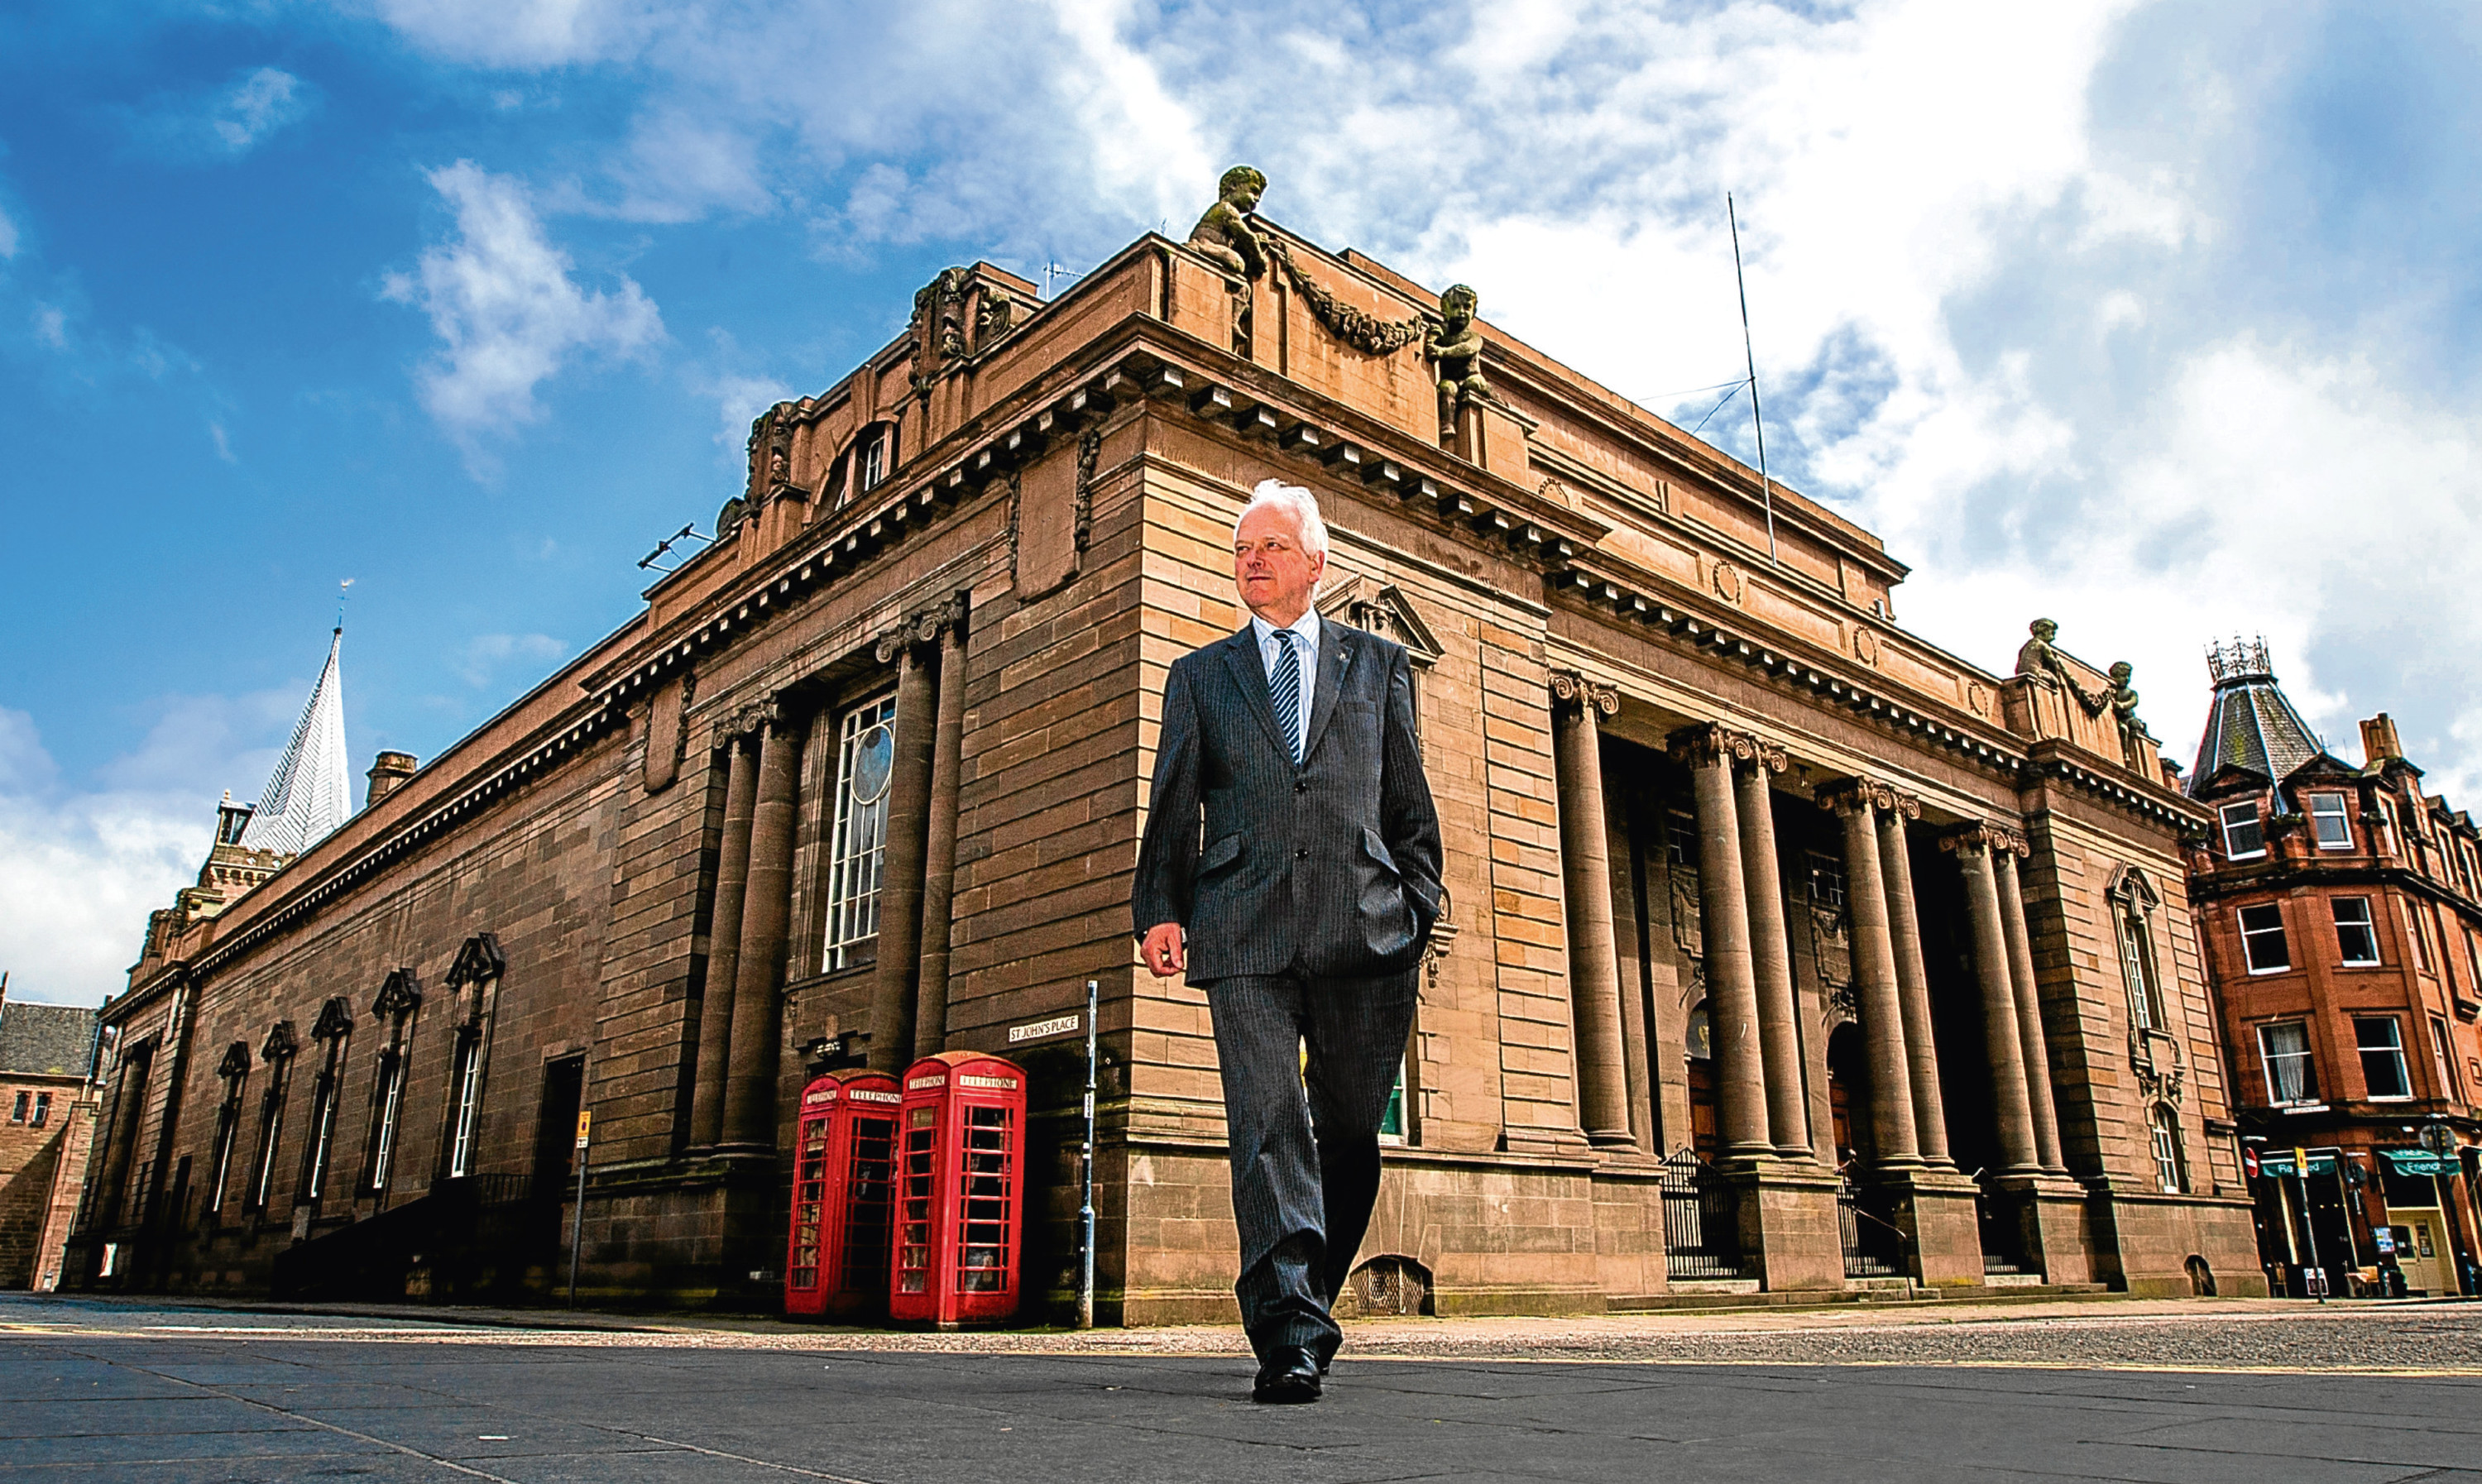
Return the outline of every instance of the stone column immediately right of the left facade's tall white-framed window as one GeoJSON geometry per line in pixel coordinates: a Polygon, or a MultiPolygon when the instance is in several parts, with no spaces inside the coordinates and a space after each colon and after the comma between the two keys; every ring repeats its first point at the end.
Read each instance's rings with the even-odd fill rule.
{"type": "Polygon", "coordinates": [[[931,849],[931,752],[938,735],[928,640],[916,620],[879,640],[879,663],[896,660],[896,764],[889,777],[889,844],[879,871],[879,970],[871,975],[871,1070],[913,1065],[923,953],[923,861],[931,849]]]}

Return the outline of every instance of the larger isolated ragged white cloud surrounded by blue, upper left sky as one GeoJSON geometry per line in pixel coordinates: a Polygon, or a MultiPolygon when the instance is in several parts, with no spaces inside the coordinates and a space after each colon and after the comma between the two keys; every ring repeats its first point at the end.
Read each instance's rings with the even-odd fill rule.
{"type": "Polygon", "coordinates": [[[457,241],[390,273],[382,293],[429,315],[444,350],[417,372],[422,405],[484,467],[486,434],[541,417],[544,380],[581,352],[653,345],[663,318],[625,275],[608,293],[578,288],[521,184],[472,161],[429,171],[429,184],[457,211],[457,241]]]}

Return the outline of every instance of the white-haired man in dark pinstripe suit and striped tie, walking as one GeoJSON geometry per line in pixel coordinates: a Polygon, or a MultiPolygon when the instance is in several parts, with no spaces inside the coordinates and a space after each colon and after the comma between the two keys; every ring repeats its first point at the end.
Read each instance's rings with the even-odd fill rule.
{"type": "Polygon", "coordinates": [[[1440,916],[1412,668],[1318,615],[1325,568],[1318,499],[1263,481],[1234,526],[1251,620],[1164,682],[1132,893],[1147,968],[1186,970],[1214,1012],[1258,1402],[1315,1402],[1343,1340],[1328,1305],[1370,1226],[1440,916]]]}

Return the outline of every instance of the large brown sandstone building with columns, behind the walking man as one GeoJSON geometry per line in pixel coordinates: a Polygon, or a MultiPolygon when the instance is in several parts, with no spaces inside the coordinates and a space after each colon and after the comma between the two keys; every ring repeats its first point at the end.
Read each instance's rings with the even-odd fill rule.
{"type": "Polygon", "coordinates": [[[79,1281],[524,1293],[583,1221],[593,1298],[767,1305],[804,1077],[948,1047],[1035,1075],[1040,1310],[1092,978],[1100,1310],[1231,1313],[1206,1000],[1127,903],[1273,474],[1417,660],[1449,846],[1365,1305],[2251,1290],[2206,814],[2125,677],[1924,643],[1874,536],[1469,308],[1239,213],[1047,303],[941,273],[638,618],[149,941],[79,1281]]]}

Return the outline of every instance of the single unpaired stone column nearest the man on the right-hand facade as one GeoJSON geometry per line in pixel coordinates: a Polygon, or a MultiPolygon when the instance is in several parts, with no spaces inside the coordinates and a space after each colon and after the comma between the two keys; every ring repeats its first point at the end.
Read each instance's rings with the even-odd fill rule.
{"type": "Polygon", "coordinates": [[[1608,717],[1618,710],[1618,690],[1554,670],[1551,772],[1559,787],[1559,859],[1569,906],[1576,1112],[1586,1139],[1596,1147],[1636,1144],[1628,1132],[1621,955],[1611,928],[1611,836],[1603,819],[1603,749],[1596,735],[1596,712],[1608,717]]]}

